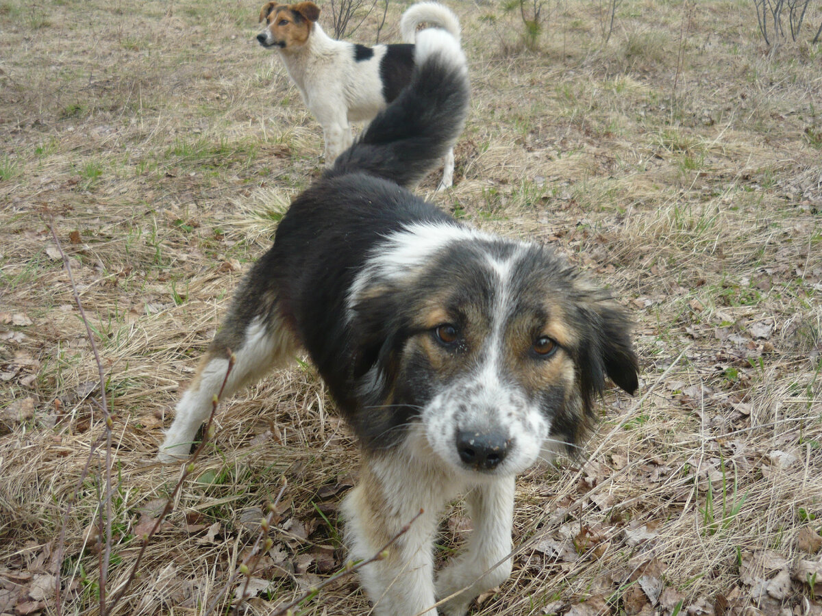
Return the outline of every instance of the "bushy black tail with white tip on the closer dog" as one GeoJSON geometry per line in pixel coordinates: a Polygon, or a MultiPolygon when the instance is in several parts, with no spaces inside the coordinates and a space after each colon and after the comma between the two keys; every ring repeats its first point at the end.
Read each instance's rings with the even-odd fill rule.
{"type": "Polygon", "coordinates": [[[326,177],[365,172],[413,186],[454,145],[469,108],[465,54],[446,30],[421,31],[408,86],[336,159],[326,177]]]}

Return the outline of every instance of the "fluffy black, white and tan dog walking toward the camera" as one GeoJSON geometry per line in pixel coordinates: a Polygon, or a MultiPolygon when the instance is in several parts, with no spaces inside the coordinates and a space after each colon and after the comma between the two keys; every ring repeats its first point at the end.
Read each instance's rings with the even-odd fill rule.
{"type": "Polygon", "coordinates": [[[459,42],[423,30],[409,86],[293,201],[247,274],[159,453],[187,457],[229,349],[226,396],[307,351],[362,452],[342,508],[351,558],[399,535],[362,570],[381,616],[465,614],[505,581],[517,473],[579,442],[606,375],[637,387],[630,322],[607,292],[404,187],[454,144],[468,106],[459,42]],[[435,575],[439,517],[460,493],[473,532],[435,575]]]}

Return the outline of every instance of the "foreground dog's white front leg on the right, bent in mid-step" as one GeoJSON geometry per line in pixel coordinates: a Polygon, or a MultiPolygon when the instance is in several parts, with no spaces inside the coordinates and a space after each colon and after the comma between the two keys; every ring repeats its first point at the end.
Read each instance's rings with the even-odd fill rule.
{"type": "Polygon", "coordinates": [[[457,591],[468,589],[441,606],[442,614],[447,616],[465,614],[475,596],[505,582],[511,572],[510,559],[506,559],[492,571],[487,571],[511,550],[514,477],[478,485],[469,492],[466,502],[473,518],[473,531],[468,545],[436,579],[438,599],[445,599],[457,591]]]}

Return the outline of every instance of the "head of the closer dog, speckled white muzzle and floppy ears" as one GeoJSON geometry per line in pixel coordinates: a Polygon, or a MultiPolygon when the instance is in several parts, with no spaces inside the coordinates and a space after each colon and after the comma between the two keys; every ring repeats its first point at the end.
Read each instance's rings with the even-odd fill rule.
{"type": "Polygon", "coordinates": [[[454,223],[387,238],[348,316],[365,447],[419,422],[456,472],[523,471],[579,441],[606,375],[638,385],[630,319],[607,292],[543,246],[454,223]]]}

